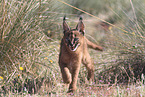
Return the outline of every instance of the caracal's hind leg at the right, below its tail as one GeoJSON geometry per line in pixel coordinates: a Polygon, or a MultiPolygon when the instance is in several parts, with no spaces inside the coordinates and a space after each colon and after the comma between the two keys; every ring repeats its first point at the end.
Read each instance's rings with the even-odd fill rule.
{"type": "Polygon", "coordinates": [[[88,52],[84,53],[82,62],[88,70],[88,76],[87,76],[88,80],[93,81],[94,80],[94,64],[88,52]]]}

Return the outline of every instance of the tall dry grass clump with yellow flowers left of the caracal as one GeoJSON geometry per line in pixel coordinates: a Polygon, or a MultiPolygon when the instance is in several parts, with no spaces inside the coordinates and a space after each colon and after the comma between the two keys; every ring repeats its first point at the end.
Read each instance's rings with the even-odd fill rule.
{"type": "Polygon", "coordinates": [[[0,79],[0,91],[32,93],[32,88],[35,92],[40,82],[41,85],[49,80],[44,81],[45,78],[53,76],[51,70],[44,68],[53,68],[51,64],[56,62],[50,55],[58,48],[52,43],[58,42],[50,42],[51,37],[46,37],[59,26],[58,15],[53,14],[54,3],[52,0],[0,1],[0,76],[3,79],[0,79]],[[48,75],[40,77],[40,74],[48,75]]]}

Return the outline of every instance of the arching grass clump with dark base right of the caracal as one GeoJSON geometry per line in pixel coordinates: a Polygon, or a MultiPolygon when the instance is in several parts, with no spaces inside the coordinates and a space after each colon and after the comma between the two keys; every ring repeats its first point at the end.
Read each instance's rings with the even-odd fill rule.
{"type": "Polygon", "coordinates": [[[136,82],[141,79],[142,74],[145,74],[145,29],[142,23],[145,18],[142,13],[144,5],[139,6],[141,2],[142,0],[137,4],[134,3],[132,9],[120,13],[124,18],[116,21],[115,25],[122,30],[110,27],[100,41],[107,48],[106,56],[102,55],[103,57],[100,59],[103,63],[99,65],[99,68],[102,68],[98,73],[101,82],[136,82]]]}

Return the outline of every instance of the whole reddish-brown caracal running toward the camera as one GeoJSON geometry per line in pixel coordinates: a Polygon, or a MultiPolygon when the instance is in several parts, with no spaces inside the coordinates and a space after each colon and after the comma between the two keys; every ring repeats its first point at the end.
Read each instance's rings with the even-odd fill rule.
{"type": "Polygon", "coordinates": [[[102,51],[102,47],[90,42],[85,36],[84,24],[82,17],[75,29],[70,29],[63,18],[63,33],[61,40],[59,66],[62,73],[64,83],[69,84],[68,92],[73,92],[77,89],[77,79],[81,63],[88,70],[88,80],[94,79],[94,65],[88,53],[88,48],[102,51]]]}

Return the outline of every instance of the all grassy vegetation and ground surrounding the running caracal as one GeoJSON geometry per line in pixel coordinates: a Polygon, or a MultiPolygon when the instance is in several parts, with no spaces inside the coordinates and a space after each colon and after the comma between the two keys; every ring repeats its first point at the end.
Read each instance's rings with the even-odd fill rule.
{"type": "Polygon", "coordinates": [[[57,0],[0,1],[1,96],[144,96],[145,1],[65,2],[115,26],[57,0]],[[58,66],[64,15],[71,27],[82,15],[86,37],[105,49],[89,50],[95,82],[87,82],[82,65],[75,94],[66,94],[58,66]]]}

